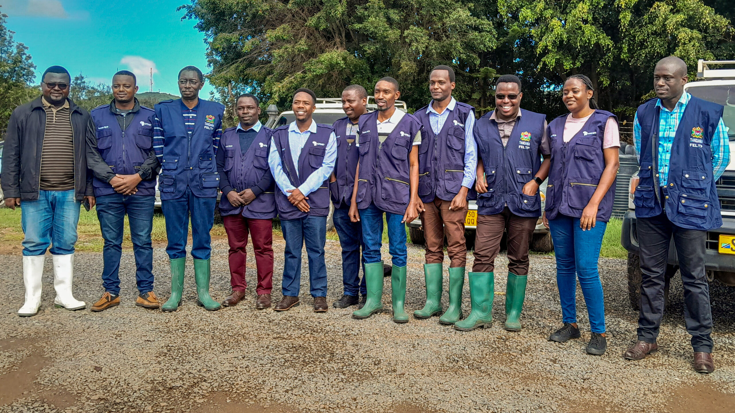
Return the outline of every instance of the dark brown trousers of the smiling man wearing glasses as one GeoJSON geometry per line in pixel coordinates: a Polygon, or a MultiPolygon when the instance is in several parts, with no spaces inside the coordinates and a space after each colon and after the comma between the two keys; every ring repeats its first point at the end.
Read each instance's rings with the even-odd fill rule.
{"type": "Polygon", "coordinates": [[[503,231],[508,231],[508,271],[528,275],[528,245],[538,218],[519,217],[506,206],[500,214],[477,215],[475,235],[475,273],[492,273],[495,257],[501,251],[503,231]]]}

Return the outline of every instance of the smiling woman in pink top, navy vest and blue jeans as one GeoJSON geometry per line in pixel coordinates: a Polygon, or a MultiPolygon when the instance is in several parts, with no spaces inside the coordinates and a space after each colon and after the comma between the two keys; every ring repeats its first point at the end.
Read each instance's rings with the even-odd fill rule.
{"type": "Polygon", "coordinates": [[[551,170],[543,220],[551,230],[564,322],[549,340],[581,337],[575,305],[578,278],[592,330],[587,353],[602,355],[607,342],[598,259],[612,213],[620,133],[615,115],[598,109],[594,95],[587,76],[569,76],[564,82],[562,101],[570,113],[548,125],[551,170]]]}

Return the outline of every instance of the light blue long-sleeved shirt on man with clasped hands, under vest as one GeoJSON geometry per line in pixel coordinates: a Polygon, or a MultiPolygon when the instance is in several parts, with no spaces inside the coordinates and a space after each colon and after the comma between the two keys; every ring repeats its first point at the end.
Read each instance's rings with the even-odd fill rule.
{"type": "MultiPolygon", "coordinates": [[[[317,123],[312,120],[312,124],[309,129],[304,132],[298,130],[296,122],[293,121],[288,126],[288,145],[291,147],[291,159],[293,159],[293,165],[296,167],[296,173],[298,173],[298,157],[301,156],[301,149],[306,145],[306,141],[309,140],[309,136],[312,133],[317,133],[317,123]]],[[[276,180],[276,184],[284,193],[284,195],[291,195],[286,192],[287,190],[296,189],[292,184],[291,180],[288,179],[288,175],[283,170],[283,164],[281,161],[282,154],[278,153],[278,147],[276,141],[270,138],[270,152],[268,153],[268,165],[270,165],[270,172],[273,173],[273,179],[276,180]]],[[[326,144],[326,154],[322,165],[312,172],[311,175],[306,177],[303,184],[298,187],[298,190],[309,196],[310,193],[318,190],[319,187],[329,179],[331,171],[334,169],[334,162],[337,160],[337,137],[334,136],[334,132],[329,135],[329,142],[326,144]]]]}

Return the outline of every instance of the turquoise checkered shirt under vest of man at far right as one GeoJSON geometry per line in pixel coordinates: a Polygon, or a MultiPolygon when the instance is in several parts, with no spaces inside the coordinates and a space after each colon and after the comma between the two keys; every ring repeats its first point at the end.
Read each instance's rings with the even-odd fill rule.
{"type": "MultiPolygon", "coordinates": [[[[692,95],[684,93],[676,102],[676,106],[673,110],[666,109],[661,105],[661,99],[656,101],[656,107],[661,108],[661,115],[659,121],[659,184],[661,187],[665,187],[669,181],[669,162],[671,159],[671,147],[674,143],[674,137],[676,135],[676,129],[679,127],[681,117],[684,115],[684,109],[686,104],[689,103],[689,99],[692,95]]],[[[641,153],[641,125],[638,123],[638,114],[633,120],[633,139],[636,145],[636,154],[640,160],[641,153]]],[[[712,151],[712,173],[714,179],[719,179],[720,176],[725,172],[730,163],[730,141],[728,140],[728,128],[725,126],[725,122],[720,118],[720,123],[717,124],[717,130],[714,131],[712,141],[710,143],[712,151]]]]}

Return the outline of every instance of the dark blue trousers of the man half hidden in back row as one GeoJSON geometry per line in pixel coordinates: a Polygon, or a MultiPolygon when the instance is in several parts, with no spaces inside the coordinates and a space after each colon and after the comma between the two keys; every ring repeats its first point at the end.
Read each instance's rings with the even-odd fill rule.
{"type": "Polygon", "coordinates": [[[335,208],[332,220],[342,246],[342,282],[345,285],[345,295],[354,297],[358,289],[362,295],[368,294],[368,288],[365,287],[365,256],[362,257],[362,282],[359,269],[360,247],[365,251],[365,243],[362,243],[362,225],[352,222],[348,212],[349,206],[335,208]]]}

